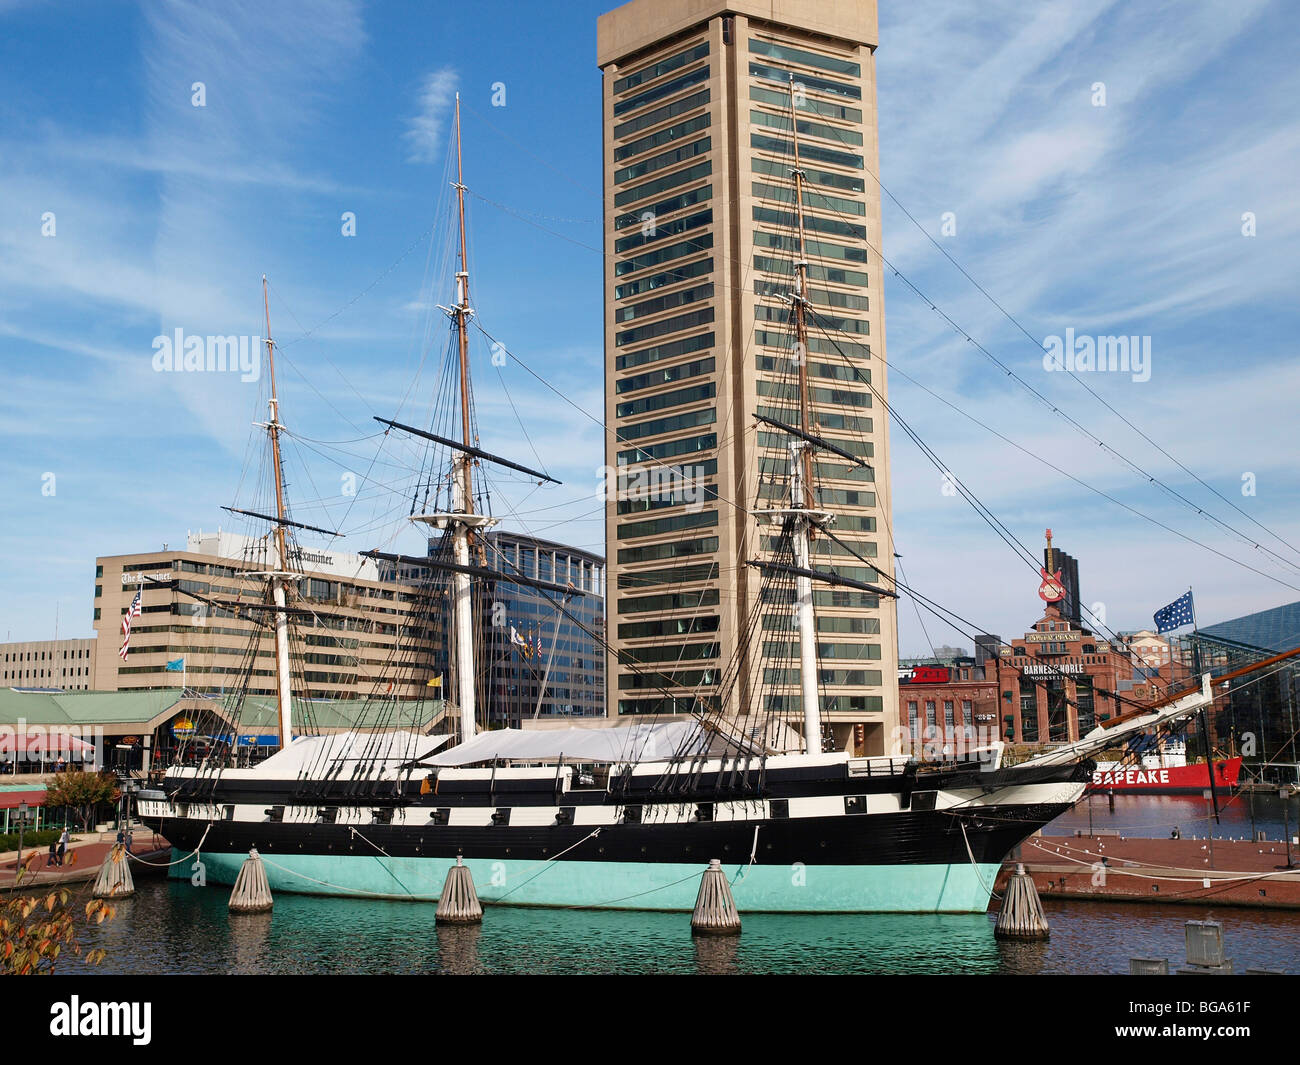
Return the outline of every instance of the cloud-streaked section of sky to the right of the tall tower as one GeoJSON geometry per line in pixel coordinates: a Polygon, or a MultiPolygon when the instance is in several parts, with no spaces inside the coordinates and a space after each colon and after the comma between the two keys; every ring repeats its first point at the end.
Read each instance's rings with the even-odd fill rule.
{"type": "MultiPolygon", "coordinates": [[[[1300,542],[1283,428],[1300,382],[1286,362],[1294,315],[1280,311],[1300,237],[1300,204],[1287,191],[1287,176],[1300,168],[1300,127],[1284,101],[1300,92],[1300,75],[1268,46],[1279,16],[1265,0],[1231,9],[1049,0],[1030,18],[1010,0],[992,0],[974,18],[949,17],[932,0],[881,9],[880,166],[924,229],[1035,335],[1072,326],[1152,337],[1150,381],[1093,375],[1088,384],[1219,493],[1300,542]],[[1098,82],[1102,107],[1093,104],[1098,82]],[[940,237],[944,212],[957,218],[954,237],[940,237]],[[1243,237],[1244,212],[1268,220],[1258,237],[1243,237]],[[1253,495],[1242,493],[1248,472],[1260,481],[1253,495]]],[[[901,375],[890,377],[892,403],[1031,549],[1044,528],[1057,531],[1083,563],[1084,598],[1109,603],[1112,625],[1149,623],[1148,607],[1167,601],[1164,585],[1173,581],[1176,592],[1193,576],[1205,616],[1296,597],[1036,463],[1034,455],[1046,456],[1170,528],[1300,584],[1295,570],[1071,429],[1050,406],[1196,506],[1287,553],[1067,375],[1044,373],[1041,350],[888,198],[884,215],[884,254],[928,296],[918,299],[885,270],[889,362],[1031,455],[901,375]],[[994,369],[931,302],[1050,404],[994,369]]],[[[941,475],[897,429],[892,436],[893,532],[909,577],[1004,636],[1023,631],[1037,606],[1032,573],[1026,570],[1022,596],[1009,596],[1017,564],[1006,547],[941,492],[941,475]],[[954,544],[962,545],[958,566],[954,544]],[[942,575],[940,588],[933,575],[942,575]]],[[[940,637],[936,622],[927,624],[952,642],[954,633],[940,637]]],[[[909,605],[900,607],[900,629],[905,653],[923,649],[909,605]]]]}

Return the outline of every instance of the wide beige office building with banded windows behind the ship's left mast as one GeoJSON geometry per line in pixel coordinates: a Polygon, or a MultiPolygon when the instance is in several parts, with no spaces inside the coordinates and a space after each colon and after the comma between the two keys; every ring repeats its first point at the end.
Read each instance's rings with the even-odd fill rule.
{"type": "MultiPolygon", "coordinates": [[[[99,690],[174,688],[221,694],[276,692],[276,651],[266,612],[265,573],[274,547],[265,537],[190,534],[181,550],[95,560],[95,681],[99,690]],[[122,616],[136,592],[124,659],[122,616]],[[170,663],[170,667],[169,667],[170,663]]],[[[428,698],[442,641],[429,596],[417,584],[381,580],[360,555],[295,549],[302,571],[294,606],[290,662],[295,698],[428,698]],[[391,687],[390,687],[391,685],[391,687]]]]}

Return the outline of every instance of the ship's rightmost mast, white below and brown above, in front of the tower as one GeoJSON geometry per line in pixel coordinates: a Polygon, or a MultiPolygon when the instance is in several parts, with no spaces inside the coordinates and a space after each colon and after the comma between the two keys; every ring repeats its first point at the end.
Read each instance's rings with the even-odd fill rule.
{"type": "MultiPolygon", "coordinates": [[[[809,328],[807,328],[807,259],[803,230],[803,170],[800,166],[800,124],[794,108],[794,75],[790,74],[790,131],[794,138],[794,216],[798,221],[794,252],[794,294],[790,309],[794,319],[794,362],[800,378],[800,428],[805,437],[811,434],[809,410],[809,328]]],[[[790,512],[786,518],[794,549],[794,566],[805,573],[811,570],[809,541],[814,521],[828,520],[819,514],[812,498],[812,449],[809,441],[790,440],[790,512]]],[[[816,676],[816,622],[812,616],[812,580],[805,573],[794,577],[794,611],[800,629],[800,685],[803,703],[803,749],[809,754],[822,753],[822,705],[816,676]]]]}

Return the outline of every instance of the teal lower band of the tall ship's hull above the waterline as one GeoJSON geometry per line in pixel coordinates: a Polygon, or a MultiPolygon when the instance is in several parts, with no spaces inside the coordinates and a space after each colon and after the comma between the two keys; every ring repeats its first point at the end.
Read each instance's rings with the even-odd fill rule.
{"type": "MultiPolygon", "coordinates": [[[[173,850],[173,861],[182,857],[173,850]]],[[[204,853],[174,879],[234,884],[244,854],[204,853]]],[[[272,892],[436,901],[452,858],[263,854],[272,892]]],[[[484,905],[692,910],[705,866],[465,861],[484,905]]],[[[725,866],[741,913],[983,913],[997,865],[725,866]]]]}

